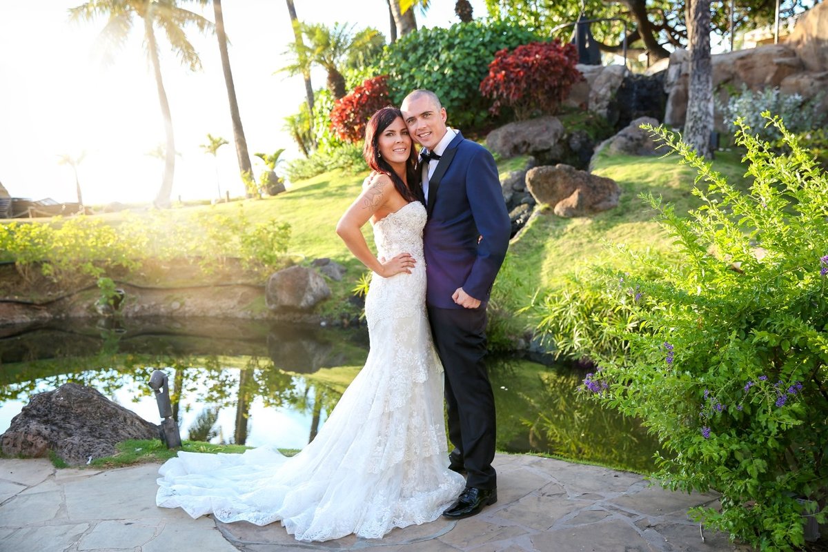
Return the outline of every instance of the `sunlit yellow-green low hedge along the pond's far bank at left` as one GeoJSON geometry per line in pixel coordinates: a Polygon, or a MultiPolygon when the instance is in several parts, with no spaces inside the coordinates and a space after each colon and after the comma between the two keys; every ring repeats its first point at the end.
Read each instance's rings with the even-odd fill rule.
{"type": "Polygon", "coordinates": [[[171,217],[169,211],[142,216],[123,214],[120,223],[84,215],[51,223],[0,224],[0,247],[27,282],[36,270],[51,281],[75,286],[90,277],[107,300],[114,294],[110,277],[137,271],[150,261],[198,259],[207,269],[229,257],[244,268],[264,271],[285,266],[291,226],[276,219],[251,223],[242,205],[234,213],[200,211],[171,217]]]}

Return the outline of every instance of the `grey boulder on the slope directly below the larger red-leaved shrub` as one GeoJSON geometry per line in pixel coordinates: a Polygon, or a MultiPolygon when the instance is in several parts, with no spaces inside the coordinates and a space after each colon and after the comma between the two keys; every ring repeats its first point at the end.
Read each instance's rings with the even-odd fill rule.
{"type": "Polygon", "coordinates": [[[489,132],[486,146],[503,157],[529,154],[539,159],[561,156],[561,138],[566,133],[561,121],[546,116],[528,121],[509,122],[489,132]]]}

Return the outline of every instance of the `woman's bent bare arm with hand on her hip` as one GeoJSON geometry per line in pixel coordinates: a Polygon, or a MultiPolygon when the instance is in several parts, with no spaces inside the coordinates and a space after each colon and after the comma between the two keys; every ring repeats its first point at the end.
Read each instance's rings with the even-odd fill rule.
{"type": "Polygon", "coordinates": [[[383,278],[390,278],[400,272],[411,274],[414,258],[409,253],[400,253],[397,257],[380,262],[368,248],[361,228],[383,205],[396,193],[391,179],[387,175],[378,175],[363,185],[362,194],[354,201],[336,224],[336,233],[345,242],[350,252],[354,253],[368,270],[376,272],[383,278]]]}

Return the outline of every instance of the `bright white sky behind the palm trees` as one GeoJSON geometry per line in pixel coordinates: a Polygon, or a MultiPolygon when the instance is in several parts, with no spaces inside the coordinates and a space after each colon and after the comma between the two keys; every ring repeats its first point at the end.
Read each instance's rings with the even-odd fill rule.
{"type": "MultiPolygon", "coordinates": [[[[75,174],[59,161],[84,154],[78,166],[84,204],[149,203],[161,185],[163,161],[147,154],[165,143],[165,134],[140,23],[114,64],[105,66],[95,53],[105,19],[69,22],[69,8],[82,3],[0,3],[0,183],[12,197],[76,201],[75,174]]],[[[486,15],[484,0],[471,3],[475,17],[486,15]]],[[[359,10],[341,0],[295,4],[301,21],[350,23],[354,30],[373,26],[389,35],[386,0],[360,0],[359,10]]],[[[455,0],[431,0],[426,15],[416,12],[418,26],[452,25],[458,21],[454,6],[455,0]]],[[[304,83],[277,72],[286,65],[282,53],[293,38],[286,2],[224,0],[222,7],[239,111],[258,177],[265,167],[253,153],[286,148],[283,159],[300,155],[282,127],[304,101],[304,83]]],[[[200,11],[195,3],[189,8],[200,11]]],[[[214,20],[211,6],[202,13],[214,20]]],[[[186,70],[161,46],[178,153],[172,197],[213,199],[219,190],[242,195],[218,42],[195,28],[187,34],[202,60],[199,73],[186,70]],[[208,133],[230,142],[215,158],[200,147],[208,133]]],[[[324,72],[317,70],[311,79],[314,88],[325,86],[324,72]]]]}

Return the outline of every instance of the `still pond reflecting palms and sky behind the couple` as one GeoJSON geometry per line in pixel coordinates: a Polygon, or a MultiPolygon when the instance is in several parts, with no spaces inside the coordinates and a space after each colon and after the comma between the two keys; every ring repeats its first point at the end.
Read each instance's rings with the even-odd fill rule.
{"type": "MultiPolygon", "coordinates": [[[[182,439],[301,449],[368,356],[366,329],[241,319],[71,320],[0,326],[0,433],[37,392],[94,387],[159,423],[147,385],[166,372],[182,439]]],[[[489,362],[498,449],[635,471],[657,441],[577,391],[585,371],[521,358],[489,362]]]]}

